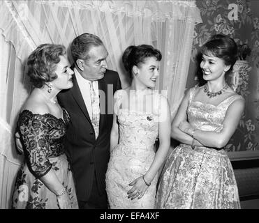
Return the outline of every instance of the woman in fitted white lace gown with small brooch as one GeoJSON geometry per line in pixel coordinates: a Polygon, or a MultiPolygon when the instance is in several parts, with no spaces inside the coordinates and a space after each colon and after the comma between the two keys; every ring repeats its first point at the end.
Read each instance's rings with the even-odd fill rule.
{"type": "Polygon", "coordinates": [[[114,93],[108,201],[110,208],[154,208],[157,172],[170,147],[168,101],[152,90],[161,52],[150,45],[130,46],[122,59],[132,83],[114,93]]]}

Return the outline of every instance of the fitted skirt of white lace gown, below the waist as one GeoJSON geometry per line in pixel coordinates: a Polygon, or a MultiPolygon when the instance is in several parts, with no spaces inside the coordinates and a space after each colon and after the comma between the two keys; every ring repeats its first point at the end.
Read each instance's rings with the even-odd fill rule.
{"type": "Polygon", "coordinates": [[[131,183],[144,175],[154,160],[153,145],[149,148],[131,148],[117,145],[110,155],[106,172],[106,192],[110,209],[153,209],[156,197],[157,174],[141,199],[128,199],[131,183]]]}

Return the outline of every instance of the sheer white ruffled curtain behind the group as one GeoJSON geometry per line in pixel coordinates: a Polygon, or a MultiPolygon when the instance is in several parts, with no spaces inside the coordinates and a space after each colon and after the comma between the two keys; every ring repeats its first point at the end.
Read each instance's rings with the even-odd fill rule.
{"type": "Polygon", "coordinates": [[[156,89],[166,90],[174,116],[184,95],[193,28],[201,22],[195,1],[0,1],[0,15],[0,208],[10,205],[22,160],[13,132],[31,91],[24,65],[38,45],[59,43],[69,49],[76,36],[94,33],[107,47],[108,67],[119,72],[122,87],[129,84],[121,65],[124,49],[154,45],[163,53],[156,89]]]}

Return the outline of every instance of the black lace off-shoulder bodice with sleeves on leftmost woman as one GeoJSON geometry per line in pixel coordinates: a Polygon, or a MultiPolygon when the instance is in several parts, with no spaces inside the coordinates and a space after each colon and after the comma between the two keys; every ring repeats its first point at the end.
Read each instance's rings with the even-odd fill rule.
{"type": "Polygon", "coordinates": [[[35,176],[47,174],[52,167],[49,158],[64,153],[62,141],[69,121],[65,109],[63,119],[52,114],[34,114],[27,109],[21,112],[17,130],[22,136],[25,160],[35,176]]]}

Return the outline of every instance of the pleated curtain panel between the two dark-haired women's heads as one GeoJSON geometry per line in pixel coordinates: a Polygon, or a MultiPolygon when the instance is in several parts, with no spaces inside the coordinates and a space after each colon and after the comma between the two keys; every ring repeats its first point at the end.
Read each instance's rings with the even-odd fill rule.
{"type": "Polygon", "coordinates": [[[191,17],[186,18],[186,20],[165,22],[163,75],[160,79],[160,88],[167,92],[171,118],[175,117],[184,97],[194,26],[191,17]]]}

